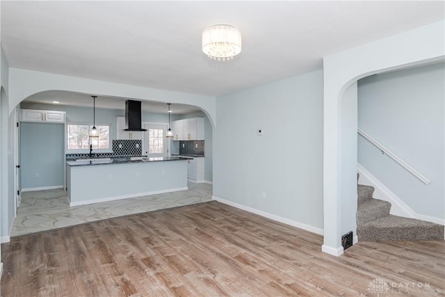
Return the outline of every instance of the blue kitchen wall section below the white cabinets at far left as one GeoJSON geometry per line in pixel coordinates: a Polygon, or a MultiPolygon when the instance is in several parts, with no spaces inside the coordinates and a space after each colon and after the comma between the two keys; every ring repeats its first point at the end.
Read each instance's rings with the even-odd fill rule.
{"type": "Polygon", "coordinates": [[[64,129],[63,124],[20,123],[22,190],[64,184],[64,129]]]}

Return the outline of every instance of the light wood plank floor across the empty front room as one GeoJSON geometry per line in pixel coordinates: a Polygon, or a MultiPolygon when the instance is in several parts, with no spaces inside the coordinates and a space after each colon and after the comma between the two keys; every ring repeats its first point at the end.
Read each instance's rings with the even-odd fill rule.
{"type": "Polygon", "coordinates": [[[322,243],[194,204],[15,237],[1,246],[1,296],[445,296],[444,241],[357,243],[341,257],[322,243]]]}

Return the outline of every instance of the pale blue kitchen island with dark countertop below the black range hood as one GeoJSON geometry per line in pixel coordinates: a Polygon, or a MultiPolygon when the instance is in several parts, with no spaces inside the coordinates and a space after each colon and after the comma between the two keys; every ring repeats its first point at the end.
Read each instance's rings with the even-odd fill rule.
{"type": "Polygon", "coordinates": [[[187,189],[187,161],[174,156],[67,161],[70,206],[187,189]]]}

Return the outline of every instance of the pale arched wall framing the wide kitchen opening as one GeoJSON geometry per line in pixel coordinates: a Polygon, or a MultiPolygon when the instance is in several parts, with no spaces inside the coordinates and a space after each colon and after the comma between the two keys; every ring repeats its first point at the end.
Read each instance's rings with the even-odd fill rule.
{"type": "MultiPolygon", "coordinates": [[[[38,95],[42,92],[48,92],[53,90],[63,90],[64,92],[84,93],[88,95],[110,96],[110,97],[122,97],[127,99],[137,99],[141,102],[151,101],[159,104],[172,103],[172,104],[188,104],[196,106],[202,113],[207,115],[210,122],[210,127],[213,129],[216,125],[216,99],[215,97],[209,97],[204,95],[194,95],[188,93],[179,93],[167,90],[156,90],[150,88],[143,88],[138,86],[123,85],[120,83],[109,83],[106,81],[96,81],[92,79],[82,79],[78,77],[67,77],[60,74],[49,74],[45,72],[35,72],[31,70],[22,70],[17,68],[9,68],[8,74],[8,97],[1,101],[1,143],[6,148],[1,149],[1,161],[2,165],[8,163],[8,166],[1,166],[5,173],[3,177],[8,177],[8,172],[13,172],[15,164],[8,162],[8,129],[13,131],[12,127],[15,127],[15,123],[8,122],[8,119],[15,117],[15,111],[17,106],[33,95],[38,95]],[[4,124],[4,125],[3,125],[4,124]],[[4,131],[3,131],[4,130],[4,131]],[[3,141],[6,140],[6,141],[3,141]]],[[[167,106],[165,105],[165,115],[167,115],[167,106]]],[[[18,145],[11,141],[9,150],[14,151],[18,145]]],[[[13,175],[11,175],[13,176],[13,175]]],[[[3,178],[2,177],[2,178],[3,178]]],[[[12,193],[14,189],[14,179],[10,178],[10,181],[1,184],[0,191],[2,191],[2,205],[9,203],[14,204],[13,198],[5,199],[8,197],[8,193],[12,193]],[[6,191],[3,193],[3,191],[6,191]],[[10,201],[9,201],[10,200],[10,201]]],[[[12,196],[13,197],[13,196],[12,196]]],[[[10,226],[13,223],[13,217],[5,216],[6,209],[2,209],[2,224],[1,224],[1,238],[3,242],[9,240],[10,226]]]]}

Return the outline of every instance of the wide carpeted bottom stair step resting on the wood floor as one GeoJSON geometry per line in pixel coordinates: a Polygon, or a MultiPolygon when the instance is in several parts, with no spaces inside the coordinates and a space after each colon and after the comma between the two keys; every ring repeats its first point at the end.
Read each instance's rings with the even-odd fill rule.
{"type": "Polygon", "coordinates": [[[359,241],[444,240],[444,226],[424,220],[389,215],[357,225],[357,236],[359,241]]]}

